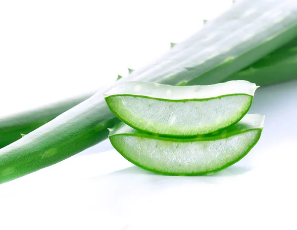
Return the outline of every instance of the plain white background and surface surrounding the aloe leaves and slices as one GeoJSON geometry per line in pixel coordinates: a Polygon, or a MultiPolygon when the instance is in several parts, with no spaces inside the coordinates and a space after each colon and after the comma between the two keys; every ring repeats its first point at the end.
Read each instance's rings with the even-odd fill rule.
{"type": "MultiPolygon", "coordinates": [[[[0,108],[10,114],[113,82],[231,0],[0,1],[0,108]]],[[[164,177],[108,140],[0,185],[0,229],[296,229],[297,81],[257,90],[258,144],[209,177],[164,177]]]]}

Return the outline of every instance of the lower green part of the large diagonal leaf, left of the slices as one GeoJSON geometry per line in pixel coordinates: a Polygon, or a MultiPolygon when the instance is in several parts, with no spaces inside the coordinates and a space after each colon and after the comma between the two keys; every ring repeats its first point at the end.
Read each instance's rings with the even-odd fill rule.
{"type": "MultiPolygon", "coordinates": [[[[0,184],[62,161],[108,136],[119,123],[100,95],[0,149],[0,184]]],[[[20,136],[20,134],[19,134],[20,136]]]]}

